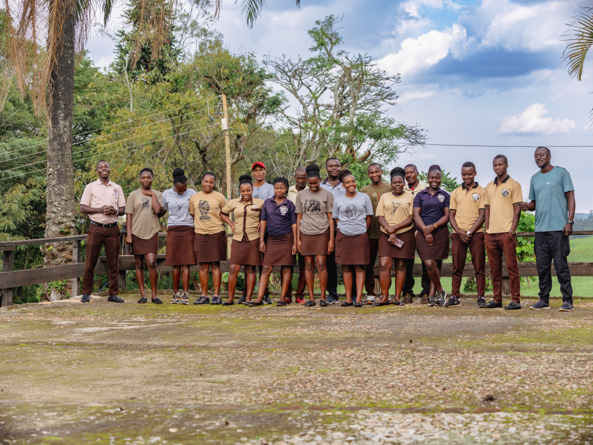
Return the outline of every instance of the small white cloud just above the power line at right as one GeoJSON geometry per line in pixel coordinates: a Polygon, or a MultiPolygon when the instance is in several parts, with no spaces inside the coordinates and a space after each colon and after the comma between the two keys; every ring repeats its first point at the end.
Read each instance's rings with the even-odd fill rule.
{"type": "Polygon", "coordinates": [[[544,117],[548,110],[541,103],[528,106],[521,114],[506,116],[500,122],[500,134],[536,133],[554,135],[568,133],[576,128],[573,119],[556,119],[544,117]]]}

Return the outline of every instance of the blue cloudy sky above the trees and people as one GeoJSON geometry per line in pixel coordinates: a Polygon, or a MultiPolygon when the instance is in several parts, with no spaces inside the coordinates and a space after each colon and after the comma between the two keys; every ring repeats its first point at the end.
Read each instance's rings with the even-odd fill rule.
{"type": "MultiPolygon", "coordinates": [[[[533,148],[437,147],[401,155],[419,169],[438,163],[457,174],[473,161],[477,180],[492,180],[491,161],[509,158],[509,173],[527,198],[538,145],[593,145],[593,55],[581,82],[562,62],[560,36],[579,9],[573,0],[268,0],[253,29],[240,4],[227,0],[213,28],[229,49],[257,56],[307,55],[307,30],[326,15],[343,15],[344,47],[369,53],[390,74],[401,74],[398,105],[390,115],[426,129],[429,144],[528,145],[533,148]]],[[[115,20],[111,31],[119,26],[115,20]]],[[[106,66],[113,43],[92,37],[91,58],[106,66]]],[[[566,167],[578,212],[593,209],[584,192],[593,149],[551,148],[552,163],[566,167]]]]}

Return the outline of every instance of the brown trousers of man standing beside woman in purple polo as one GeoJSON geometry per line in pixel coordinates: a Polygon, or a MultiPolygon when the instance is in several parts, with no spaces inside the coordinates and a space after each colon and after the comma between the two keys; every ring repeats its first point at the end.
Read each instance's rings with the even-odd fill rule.
{"type": "Polygon", "coordinates": [[[451,274],[451,293],[458,297],[461,293],[461,277],[466,267],[467,249],[471,253],[471,263],[476,269],[476,287],[479,296],[486,291],[486,250],[484,250],[484,233],[476,232],[471,236],[469,243],[463,243],[457,233],[452,234],[451,258],[453,260],[453,272],[451,274]]]}

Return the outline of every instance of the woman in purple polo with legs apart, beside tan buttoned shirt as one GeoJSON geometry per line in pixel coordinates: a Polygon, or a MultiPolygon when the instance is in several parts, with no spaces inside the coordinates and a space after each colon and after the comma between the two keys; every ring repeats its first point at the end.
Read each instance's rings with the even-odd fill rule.
{"type": "Polygon", "coordinates": [[[273,180],[274,197],[268,198],[263,203],[260,215],[260,251],[263,257],[262,276],[257,293],[257,300],[247,306],[261,306],[267,283],[274,266],[280,266],[282,274],[282,292],[276,306],[286,306],[286,294],[292,280],[292,266],[296,264],[297,255],[297,215],[295,205],[286,199],[288,192],[288,179],[277,177],[273,180]],[[264,241],[268,233],[267,243],[264,241]]]}

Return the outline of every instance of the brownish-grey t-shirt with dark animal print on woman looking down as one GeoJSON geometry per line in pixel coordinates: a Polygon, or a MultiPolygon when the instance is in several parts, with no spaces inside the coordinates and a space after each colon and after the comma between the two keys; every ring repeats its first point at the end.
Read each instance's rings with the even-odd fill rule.
{"type": "Polygon", "coordinates": [[[305,235],[318,235],[329,228],[327,214],[333,206],[333,195],[325,189],[317,193],[310,189],[302,190],[295,202],[296,213],[302,213],[301,232],[305,235]]]}

